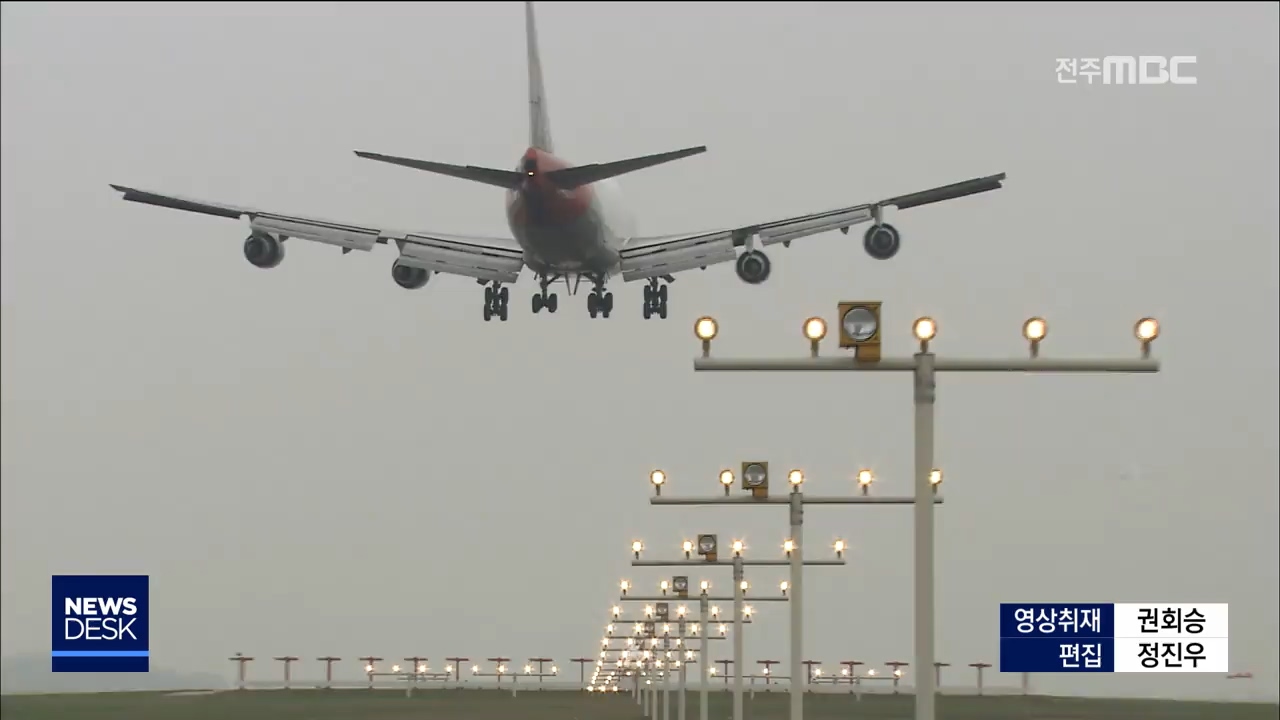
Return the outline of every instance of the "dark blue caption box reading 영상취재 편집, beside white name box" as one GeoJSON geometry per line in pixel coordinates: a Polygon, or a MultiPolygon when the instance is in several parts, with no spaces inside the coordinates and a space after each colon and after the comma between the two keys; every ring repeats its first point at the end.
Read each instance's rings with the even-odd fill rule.
{"type": "Polygon", "coordinates": [[[1000,603],[1001,673],[1114,673],[1115,605],[1000,603]]]}

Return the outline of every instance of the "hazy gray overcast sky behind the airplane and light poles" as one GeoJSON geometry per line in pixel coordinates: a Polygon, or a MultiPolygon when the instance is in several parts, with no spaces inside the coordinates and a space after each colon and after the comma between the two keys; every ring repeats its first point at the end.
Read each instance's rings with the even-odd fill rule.
{"type": "MultiPolygon", "coordinates": [[[[940,352],[970,356],[1024,352],[1030,314],[1062,355],[1135,354],[1134,319],[1165,322],[1160,375],[943,379],[942,659],[995,662],[1001,601],[1220,601],[1233,667],[1276,693],[1275,4],[538,10],[557,150],[710,149],[623,178],[641,232],[1009,182],[899,215],[890,263],[856,232],[804,240],[765,286],[681,275],[666,323],[621,283],[608,322],[563,293],[532,316],[526,278],[511,322],[485,324],[475,283],[406,292],[385,247],[297,246],[262,272],[237,223],[108,183],[504,233],[500,191],[351,151],[512,165],[517,3],[6,4],[4,653],[44,652],[47,577],[88,571],[150,573],[152,652],[183,670],[229,676],[233,651],[590,652],[620,578],[669,575],[628,568],[634,537],[772,555],[785,536],[781,511],[649,507],[652,466],[671,493],[714,492],[748,457],[805,468],[813,492],[851,489],[860,465],[908,492],[905,378],[690,366],[699,314],[721,318],[718,354],[794,355],[804,316],[881,299],[890,352],[923,313],[940,352]],[[1057,85],[1055,58],[1107,54],[1197,55],[1199,83],[1057,85]]],[[[810,574],[806,653],[910,659],[910,511],[808,520],[854,552],[810,574]]],[[[749,657],[786,657],[783,612],[762,609],[749,657]]]]}

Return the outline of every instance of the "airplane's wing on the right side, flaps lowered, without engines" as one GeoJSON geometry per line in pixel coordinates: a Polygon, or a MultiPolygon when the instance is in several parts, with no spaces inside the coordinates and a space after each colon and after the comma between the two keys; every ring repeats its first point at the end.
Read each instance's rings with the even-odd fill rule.
{"type": "Polygon", "coordinates": [[[737,258],[737,247],[746,245],[750,237],[755,237],[762,245],[768,246],[835,229],[847,233],[850,225],[878,219],[883,208],[906,210],[943,200],[955,200],[966,195],[998,190],[1004,181],[1005,173],[1000,173],[899,195],[877,202],[837,208],[754,225],[631,238],[621,251],[622,279],[626,282],[643,281],[671,275],[691,268],[731,263],[737,258]]]}

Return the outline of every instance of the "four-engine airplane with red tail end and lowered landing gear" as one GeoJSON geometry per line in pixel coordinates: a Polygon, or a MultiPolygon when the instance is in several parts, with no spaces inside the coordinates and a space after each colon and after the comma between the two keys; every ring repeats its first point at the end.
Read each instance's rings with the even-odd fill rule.
{"type": "Polygon", "coordinates": [[[244,258],[257,268],[275,268],[284,259],[284,243],[302,238],[337,246],[343,254],[370,251],[394,243],[399,255],[392,264],[392,279],[406,290],[426,286],[433,274],[474,278],[484,286],[484,319],[506,322],[509,288],[524,269],[532,272],[539,291],[532,295],[535,314],[558,309],[550,292],[564,282],[576,295],[582,278],[591,283],[586,309],[591,318],[613,313],[613,293],[607,283],[644,282],[644,318],[667,318],[668,284],[675,274],[694,268],[735,263],[737,277],[750,284],[769,278],[772,261],[760,247],[782,243],[870,222],[863,247],[877,260],[893,258],[901,234],[884,222],[884,209],[906,210],[1002,187],[1005,173],[973,178],[876,202],[836,208],[751,225],[664,236],[635,234],[634,218],[622,204],[616,177],[707,151],[686,147],[611,163],[575,165],[558,155],[552,142],[547,92],[543,85],[534,4],[525,3],[525,42],[529,69],[529,147],[513,170],[476,165],[451,165],[379,152],[356,151],[369,160],[494,186],[506,191],[507,224],[512,237],[479,237],[431,231],[399,231],[378,224],[323,220],[287,215],[250,206],[192,200],[120,184],[111,188],[123,199],[161,208],[223,218],[248,219],[244,258]],[[741,252],[739,251],[741,249],[741,252]],[[570,281],[573,281],[570,284],[570,281]]]}

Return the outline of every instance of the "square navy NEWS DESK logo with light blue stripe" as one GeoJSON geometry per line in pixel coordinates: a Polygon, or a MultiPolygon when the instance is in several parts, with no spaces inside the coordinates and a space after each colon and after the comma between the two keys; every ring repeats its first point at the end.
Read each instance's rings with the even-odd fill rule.
{"type": "Polygon", "coordinates": [[[147,673],[147,575],[54,575],[54,673],[147,673]]]}

